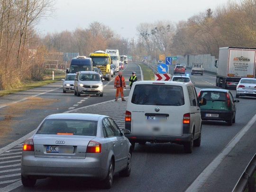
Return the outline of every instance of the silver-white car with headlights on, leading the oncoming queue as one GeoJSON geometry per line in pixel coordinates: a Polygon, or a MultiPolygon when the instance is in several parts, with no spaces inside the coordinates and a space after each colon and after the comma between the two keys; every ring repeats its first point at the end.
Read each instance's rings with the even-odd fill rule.
{"type": "Polygon", "coordinates": [[[80,71],[74,80],[74,95],[96,94],[103,97],[103,83],[100,75],[95,71],[80,71]]]}

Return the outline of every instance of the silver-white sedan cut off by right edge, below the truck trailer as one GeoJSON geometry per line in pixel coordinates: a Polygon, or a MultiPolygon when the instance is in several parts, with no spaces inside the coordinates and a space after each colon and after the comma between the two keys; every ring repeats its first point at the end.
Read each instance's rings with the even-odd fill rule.
{"type": "Polygon", "coordinates": [[[256,97],[256,79],[241,78],[237,85],[236,98],[241,96],[256,97]]]}

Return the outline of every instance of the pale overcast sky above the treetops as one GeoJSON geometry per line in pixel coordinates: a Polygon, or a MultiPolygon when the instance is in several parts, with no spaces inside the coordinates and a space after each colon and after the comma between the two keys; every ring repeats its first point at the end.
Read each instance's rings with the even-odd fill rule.
{"type": "Polygon", "coordinates": [[[207,8],[215,9],[227,0],[56,0],[52,17],[42,20],[38,30],[73,31],[93,21],[110,26],[125,38],[137,37],[136,27],[143,22],[186,20],[207,8]]]}

